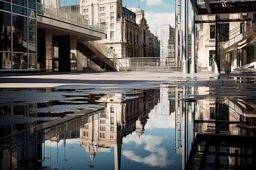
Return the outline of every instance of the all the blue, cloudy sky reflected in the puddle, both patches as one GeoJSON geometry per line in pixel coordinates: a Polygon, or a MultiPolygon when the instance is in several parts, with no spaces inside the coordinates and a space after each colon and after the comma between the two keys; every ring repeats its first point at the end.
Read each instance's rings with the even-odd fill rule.
{"type": "MultiPolygon", "coordinates": [[[[135,132],[123,138],[121,146],[121,170],[179,170],[182,168],[182,155],[175,155],[175,114],[161,115],[160,104],[148,115],[145,132],[140,137],[135,132]]],[[[66,139],[57,143],[45,141],[44,166],[63,169],[88,169],[92,164],[90,154],[80,146],[80,139],[66,139]],[[51,149],[50,149],[51,146],[51,149]],[[58,155],[57,155],[58,152],[58,155]],[[51,155],[51,157],[50,157],[51,155]],[[58,156],[58,161],[57,161],[58,156]],[[49,158],[49,159],[47,159],[49,158]]],[[[190,148],[190,146],[189,146],[190,148]]],[[[93,165],[95,170],[115,169],[114,148],[110,152],[97,152],[93,165]]]]}

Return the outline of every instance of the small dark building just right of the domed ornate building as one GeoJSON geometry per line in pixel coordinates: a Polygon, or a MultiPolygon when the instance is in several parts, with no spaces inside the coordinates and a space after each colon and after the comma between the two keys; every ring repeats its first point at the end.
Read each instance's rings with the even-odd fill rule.
{"type": "Polygon", "coordinates": [[[148,32],[149,32],[148,57],[160,57],[160,40],[156,35],[151,33],[150,30],[148,30],[148,32]]]}

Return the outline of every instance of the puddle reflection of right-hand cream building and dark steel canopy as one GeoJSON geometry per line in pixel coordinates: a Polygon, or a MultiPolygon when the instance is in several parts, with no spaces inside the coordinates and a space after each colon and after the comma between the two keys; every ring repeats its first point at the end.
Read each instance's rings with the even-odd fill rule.
{"type": "MultiPolygon", "coordinates": [[[[200,95],[209,96],[212,91],[216,93],[217,90],[198,87],[200,95]]],[[[247,124],[255,124],[248,117],[252,116],[256,102],[207,98],[199,100],[200,114],[195,117],[195,132],[198,134],[193,141],[186,169],[255,169],[256,165],[253,163],[256,157],[256,138],[249,137],[255,133],[249,130],[247,124]],[[244,126],[248,129],[243,128],[244,126]]]]}

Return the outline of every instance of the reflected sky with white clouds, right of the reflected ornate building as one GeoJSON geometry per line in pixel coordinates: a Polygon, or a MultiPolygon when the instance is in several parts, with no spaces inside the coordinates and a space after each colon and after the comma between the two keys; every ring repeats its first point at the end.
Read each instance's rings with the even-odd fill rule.
{"type": "MultiPolygon", "coordinates": [[[[160,105],[160,104],[159,104],[160,105]]],[[[161,107],[149,113],[145,132],[123,139],[121,169],[180,169],[181,155],[175,155],[175,114],[161,115],[161,107]]]]}

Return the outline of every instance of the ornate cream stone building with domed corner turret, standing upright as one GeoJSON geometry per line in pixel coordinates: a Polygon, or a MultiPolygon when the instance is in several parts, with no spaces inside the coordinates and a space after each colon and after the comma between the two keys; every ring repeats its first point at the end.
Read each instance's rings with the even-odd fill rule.
{"type": "Polygon", "coordinates": [[[101,42],[119,58],[149,56],[149,27],[140,7],[133,12],[122,0],[81,0],[80,11],[84,18],[106,25],[107,37],[101,42]]]}

